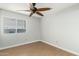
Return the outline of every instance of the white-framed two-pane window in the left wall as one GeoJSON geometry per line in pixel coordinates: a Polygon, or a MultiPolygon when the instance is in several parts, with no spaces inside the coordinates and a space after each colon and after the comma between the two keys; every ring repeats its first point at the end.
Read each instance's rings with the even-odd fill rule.
{"type": "Polygon", "coordinates": [[[4,33],[24,33],[26,32],[26,21],[5,17],[3,30],[4,33]]]}

